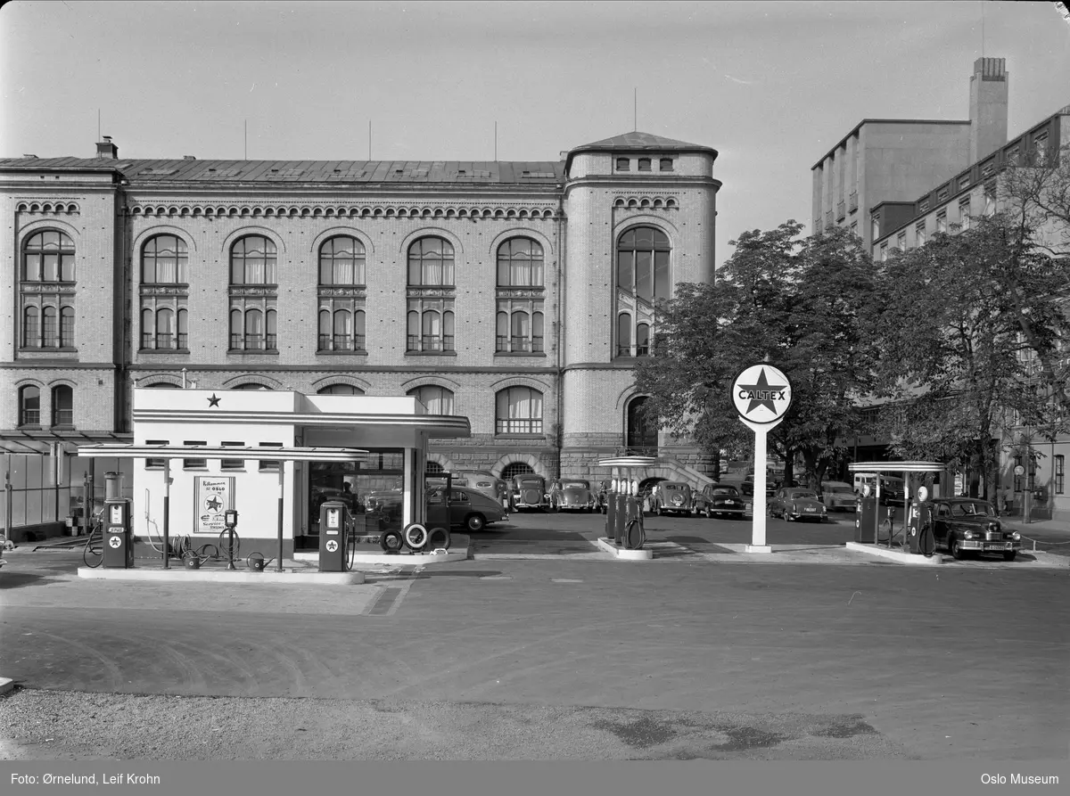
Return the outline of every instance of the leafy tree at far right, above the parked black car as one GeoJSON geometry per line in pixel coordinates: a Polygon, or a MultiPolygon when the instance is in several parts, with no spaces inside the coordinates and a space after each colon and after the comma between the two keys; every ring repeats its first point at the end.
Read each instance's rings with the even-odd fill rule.
{"type": "Polygon", "coordinates": [[[1037,388],[1021,352],[1064,334],[1058,294],[1070,262],[1038,251],[1020,219],[972,220],[886,263],[877,392],[897,400],[883,417],[895,454],[974,468],[988,493],[1005,417],[1031,424],[1050,414],[1051,394],[1037,388]]]}

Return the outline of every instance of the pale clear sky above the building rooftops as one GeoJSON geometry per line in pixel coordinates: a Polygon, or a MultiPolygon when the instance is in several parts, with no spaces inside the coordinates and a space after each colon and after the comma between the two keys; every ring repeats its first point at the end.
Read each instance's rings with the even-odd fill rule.
{"type": "Polygon", "coordinates": [[[0,9],[0,157],[556,160],[639,129],[719,153],[717,252],[811,216],[859,121],[968,119],[1007,59],[1009,135],[1070,104],[1054,2],[93,2],[0,9]],[[369,122],[371,135],[369,142],[369,122]]]}

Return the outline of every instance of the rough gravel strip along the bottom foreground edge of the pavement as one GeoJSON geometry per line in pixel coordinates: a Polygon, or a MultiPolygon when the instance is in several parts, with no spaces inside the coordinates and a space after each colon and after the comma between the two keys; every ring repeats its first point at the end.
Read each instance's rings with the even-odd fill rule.
{"type": "Polygon", "coordinates": [[[857,715],[45,691],[0,698],[3,760],[874,760],[857,715]]]}

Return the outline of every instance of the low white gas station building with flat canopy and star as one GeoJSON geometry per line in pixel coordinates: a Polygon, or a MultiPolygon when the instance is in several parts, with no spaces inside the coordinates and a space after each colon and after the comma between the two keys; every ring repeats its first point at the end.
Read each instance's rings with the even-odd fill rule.
{"type": "Polygon", "coordinates": [[[422,522],[429,441],[471,434],[467,417],[429,414],[411,396],[135,388],[133,418],[133,446],[80,453],[134,458],[131,531],[142,557],[157,555],[144,541],[159,546],[165,505],[169,537],[189,535],[195,547],[218,539],[227,509],[238,511],[243,550],[275,551],[281,522],[288,556],[318,548],[324,499],[360,505],[371,493],[394,493],[398,529],[422,522]],[[331,454],[316,461],[317,448],[331,454]],[[221,458],[228,449],[234,458],[221,458]]]}

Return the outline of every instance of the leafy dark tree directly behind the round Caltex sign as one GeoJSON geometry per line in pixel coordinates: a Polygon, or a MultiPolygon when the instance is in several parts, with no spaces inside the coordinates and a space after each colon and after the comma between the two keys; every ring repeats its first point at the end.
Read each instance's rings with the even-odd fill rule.
{"type": "Polygon", "coordinates": [[[817,488],[858,426],[856,399],[869,392],[876,350],[862,319],[876,298],[872,263],[847,230],[799,240],[800,224],[744,232],[715,284],[681,284],[659,305],[654,356],[636,367],[645,411],[706,450],[750,449],[731,382],[765,361],[791,379],[792,409],[769,434],[793,477],[800,454],[817,488]]]}

